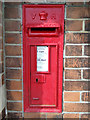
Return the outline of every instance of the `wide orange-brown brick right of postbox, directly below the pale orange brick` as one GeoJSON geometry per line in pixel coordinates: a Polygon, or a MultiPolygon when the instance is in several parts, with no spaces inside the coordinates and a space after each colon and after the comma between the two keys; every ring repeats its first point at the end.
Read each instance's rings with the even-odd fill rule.
{"type": "Polygon", "coordinates": [[[90,112],[90,103],[64,103],[65,112],[90,112]]]}

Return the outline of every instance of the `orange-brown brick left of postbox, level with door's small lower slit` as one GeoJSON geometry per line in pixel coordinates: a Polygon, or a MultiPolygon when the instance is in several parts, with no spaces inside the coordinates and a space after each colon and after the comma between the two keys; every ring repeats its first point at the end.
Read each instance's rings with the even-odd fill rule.
{"type": "Polygon", "coordinates": [[[7,99],[8,100],[22,100],[22,92],[19,91],[7,91],[7,99]]]}

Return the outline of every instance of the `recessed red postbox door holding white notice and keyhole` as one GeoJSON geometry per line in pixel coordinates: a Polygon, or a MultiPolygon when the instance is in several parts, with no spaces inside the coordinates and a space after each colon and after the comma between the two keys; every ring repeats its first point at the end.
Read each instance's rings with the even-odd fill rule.
{"type": "Polygon", "coordinates": [[[56,107],[57,45],[33,45],[30,51],[30,106],[56,107]]]}

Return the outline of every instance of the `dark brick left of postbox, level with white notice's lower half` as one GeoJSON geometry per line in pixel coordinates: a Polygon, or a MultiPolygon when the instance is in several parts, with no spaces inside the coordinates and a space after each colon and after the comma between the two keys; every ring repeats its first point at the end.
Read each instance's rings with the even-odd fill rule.
{"type": "Polygon", "coordinates": [[[6,67],[21,67],[21,58],[6,58],[6,67]]]}

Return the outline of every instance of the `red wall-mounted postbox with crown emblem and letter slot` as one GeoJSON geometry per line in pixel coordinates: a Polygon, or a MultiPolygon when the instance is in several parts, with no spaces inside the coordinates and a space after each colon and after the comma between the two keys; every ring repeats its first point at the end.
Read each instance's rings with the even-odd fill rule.
{"type": "Polygon", "coordinates": [[[62,111],[64,5],[23,6],[25,112],[62,111]]]}

